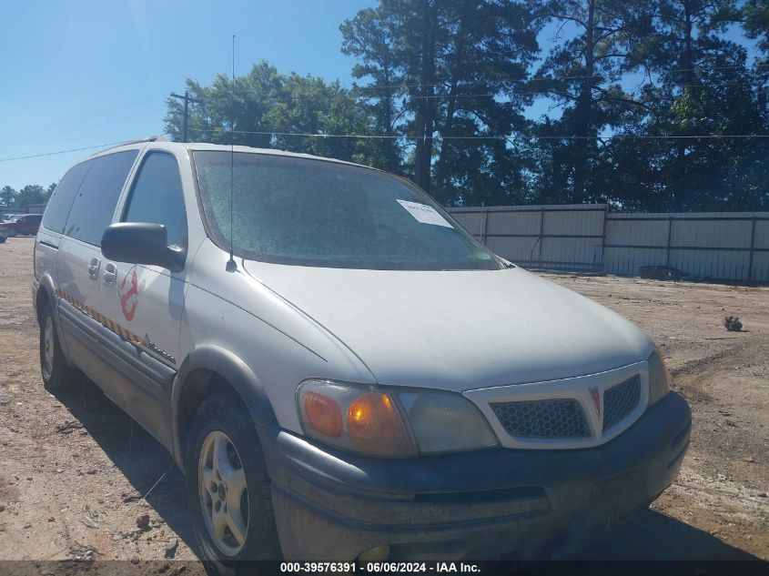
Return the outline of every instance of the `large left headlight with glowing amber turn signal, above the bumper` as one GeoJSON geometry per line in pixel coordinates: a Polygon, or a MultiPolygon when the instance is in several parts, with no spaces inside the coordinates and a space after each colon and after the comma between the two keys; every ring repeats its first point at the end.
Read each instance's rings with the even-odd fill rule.
{"type": "Polygon", "coordinates": [[[306,380],[298,412],[305,433],[343,450],[404,457],[497,445],[481,412],[459,394],[306,380]]]}

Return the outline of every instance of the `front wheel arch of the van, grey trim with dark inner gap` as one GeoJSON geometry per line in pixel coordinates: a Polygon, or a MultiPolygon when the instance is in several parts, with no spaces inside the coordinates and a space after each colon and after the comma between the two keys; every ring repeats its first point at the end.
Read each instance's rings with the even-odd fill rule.
{"type": "Polygon", "coordinates": [[[253,370],[227,349],[199,346],[181,363],[171,389],[171,440],[174,460],[182,471],[189,421],[200,402],[213,393],[240,401],[258,427],[278,427],[267,393],[253,370]]]}

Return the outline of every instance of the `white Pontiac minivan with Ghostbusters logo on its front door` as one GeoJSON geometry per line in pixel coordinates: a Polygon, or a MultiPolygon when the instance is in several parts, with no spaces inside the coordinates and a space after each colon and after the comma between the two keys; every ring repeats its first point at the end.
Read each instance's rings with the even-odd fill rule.
{"type": "Polygon", "coordinates": [[[46,386],[82,371],[173,454],[224,568],[561,553],[689,444],[640,329],[369,167],[110,148],[56,187],[32,288],[46,386]]]}

